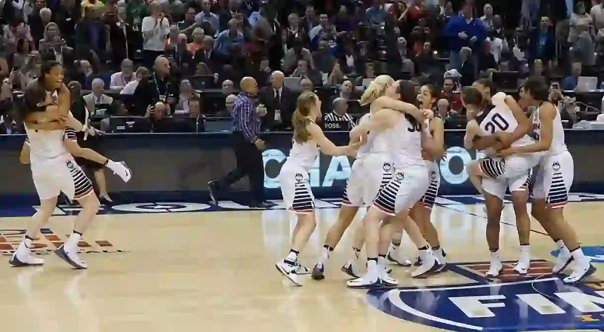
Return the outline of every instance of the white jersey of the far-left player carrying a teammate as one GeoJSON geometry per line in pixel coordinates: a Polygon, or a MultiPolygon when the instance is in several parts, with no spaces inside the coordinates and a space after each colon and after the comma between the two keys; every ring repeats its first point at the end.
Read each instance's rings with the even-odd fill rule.
{"type": "Polygon", "coordinates": [[[30,146],[31,164],[51,161],[59,157],[69,157],[63,145],[65,130],[31,130],[25,126],[27,142],[30,146]]]}

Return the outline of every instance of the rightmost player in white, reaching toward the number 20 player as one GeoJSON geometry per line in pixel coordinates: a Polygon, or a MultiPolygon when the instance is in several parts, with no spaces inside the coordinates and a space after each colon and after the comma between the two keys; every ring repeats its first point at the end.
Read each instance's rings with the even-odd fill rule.
{"type": "Polygon", "coordinates": [[[571,261],[575,261],[573,273],[564,283],[582,281],[593,274],[596,268],[590,258],[583,255],[577,235],[564,220],[564,206],[573,184],[573,156],[564,142],[564,127],[556,106],[548,101],[548,86],[541,77],[529,77],[520,91],[520,97],[526,106],[537,107],[532,114],[533,133],[536,142],[524,146],[512,146],[501,151],[502,156],[522,153],[545,152],[533,187],[532,214],[541,226],[556,242],[560,251],[553,272],[564,270],[571,261]]]}

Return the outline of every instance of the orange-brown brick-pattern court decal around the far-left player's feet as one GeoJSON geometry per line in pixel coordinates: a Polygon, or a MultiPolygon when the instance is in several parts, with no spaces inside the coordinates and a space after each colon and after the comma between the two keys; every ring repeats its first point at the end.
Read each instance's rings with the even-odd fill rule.
{"type": "MultiPolygon", "coordinates": [[[[25,229],[0,229],[0,254],[11,256],[23,240],[25,229]]],[[[34,255],[49,255],[58,249],[69,235],[61,236],[50,228],[40,229],[40,234],[33,241],[31,253],[34,255]]],[[[83,254],[115,254],[123,253],[107,240],[82,240],[78,243],[79,252],[83,254]]]]}

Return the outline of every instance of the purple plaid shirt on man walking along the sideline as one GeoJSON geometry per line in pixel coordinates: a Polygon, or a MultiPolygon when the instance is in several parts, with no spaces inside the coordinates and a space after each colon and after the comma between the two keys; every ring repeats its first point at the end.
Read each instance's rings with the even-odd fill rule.
{"type": "Polygon", "coordinates": [[[245,92],[240,92],[233,103],[231,124],[233,132],[241,132],[248,141],[254,142],[258,138],[262,120],[256,114],[255,99],[245,92]]]}

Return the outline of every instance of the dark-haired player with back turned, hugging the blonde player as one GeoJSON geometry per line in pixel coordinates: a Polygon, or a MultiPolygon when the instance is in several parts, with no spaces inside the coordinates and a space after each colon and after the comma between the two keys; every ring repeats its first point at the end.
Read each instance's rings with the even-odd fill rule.
{"type": "MultiPolygon", "coordinates": [[[[409,81],[399,81],[393,85],[393,88],[399,92],[401,97],[410,93],[413,95],[413,99],[415,97],[415,88],[409,81]]],[[[412,112],[402,115],[394,110],[381,108],[367,124],[359,125],[350,132],[353,140],[364,133],[373,131],[378,132],[378,135],[387,135],[394,173],[393,179],[379,191],[363,219],[367,274],[347,282],[349,287],[371,287],[380,284],[396,286],[398,284],[396,280],[388,276],[384,263],[382,263],[385,261],[392,237],[391,220],[405,223],[405,230],[419,247],[425,262],[425,269],[420,267],[412,272],[411,276],[423,275],[435,265],[435,258],[429,251],[428,243],[417,225],[407,218],[409,209],[423,196],[429,184],[428,170],[422,158],[422,142],[427,134],[420,126],[424,123],[425,117],[417,107],[408,105],[410,110],[414,110],[415,118],[410,116],[412,112]],[[386,217],[394,215],[396,218],[386,219],[386,217]],[[381,229],[379,222],[384,223],[381,229]]]]}

